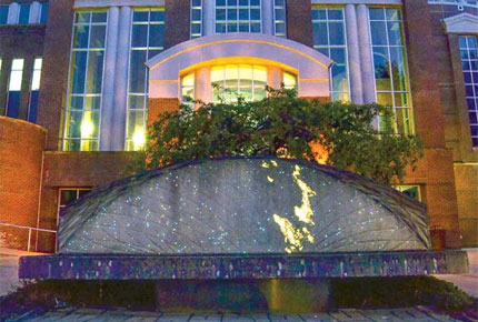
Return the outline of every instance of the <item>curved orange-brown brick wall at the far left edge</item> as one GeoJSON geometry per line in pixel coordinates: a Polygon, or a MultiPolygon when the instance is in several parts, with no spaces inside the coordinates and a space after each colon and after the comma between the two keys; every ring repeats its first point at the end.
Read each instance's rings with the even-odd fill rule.
{"type": "MultiPolygon", "coordinates": [[[[0,222],[37,228],[46,137],[39,125],[0,117],[0,222]]],[[[28,230],[0,227],[0,246],[6,233],[8,246],[27,250],[28,230]]]]}

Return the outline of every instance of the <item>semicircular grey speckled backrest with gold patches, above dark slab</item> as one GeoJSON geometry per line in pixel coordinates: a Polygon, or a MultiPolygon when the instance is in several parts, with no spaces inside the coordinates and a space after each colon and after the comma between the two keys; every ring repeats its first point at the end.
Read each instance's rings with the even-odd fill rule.
{"type": "Polygon", "coordinates": [[[199,160],[89,193],[61,217],[60,253],[290,253],[426,250],[425,204],[298,160],[199,160]]]}

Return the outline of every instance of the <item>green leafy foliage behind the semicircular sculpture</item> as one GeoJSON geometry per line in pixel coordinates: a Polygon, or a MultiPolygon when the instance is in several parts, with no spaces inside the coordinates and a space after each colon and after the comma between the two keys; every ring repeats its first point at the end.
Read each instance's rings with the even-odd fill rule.
{"type": "Polygon", "coordinates": [[[149,131],[133,170],[226,155],[277,155],[352,170],[385,183],[401,181],[422,155],[417,137],[396,134],[392,111],[378,104],[309,101],[268,88],[249,102],[202,103],[167,112],[149,131]],[[374,121],[380,118],[380,131],[374,121]],[[320,149],[317,149],[319,147],[320,149]]]}

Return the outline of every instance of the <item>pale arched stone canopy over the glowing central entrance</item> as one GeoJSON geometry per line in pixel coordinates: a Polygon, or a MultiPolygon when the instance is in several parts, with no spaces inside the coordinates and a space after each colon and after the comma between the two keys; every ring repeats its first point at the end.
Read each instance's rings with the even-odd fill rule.
{"type": "Polygon", "coordinates": [[[238,32],[189,40],[150,59],[150,98],[178,98],[179,78],[186,70],[233,58],[296,71],[300,97],[329,97],[329,58],[288,39],[238,32]]]}

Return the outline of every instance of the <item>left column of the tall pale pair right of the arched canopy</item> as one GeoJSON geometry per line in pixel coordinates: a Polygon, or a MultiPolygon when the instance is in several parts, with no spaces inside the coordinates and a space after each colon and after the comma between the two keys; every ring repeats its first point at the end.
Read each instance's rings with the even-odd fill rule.
{"type": "Polygon", "coordinates": [[[346,6],[347,49],[350,71],[350,99],[353,103],[364,103],[360,69],[360,51],[357,32],[357,13],[355,4],[346,6]]]}

